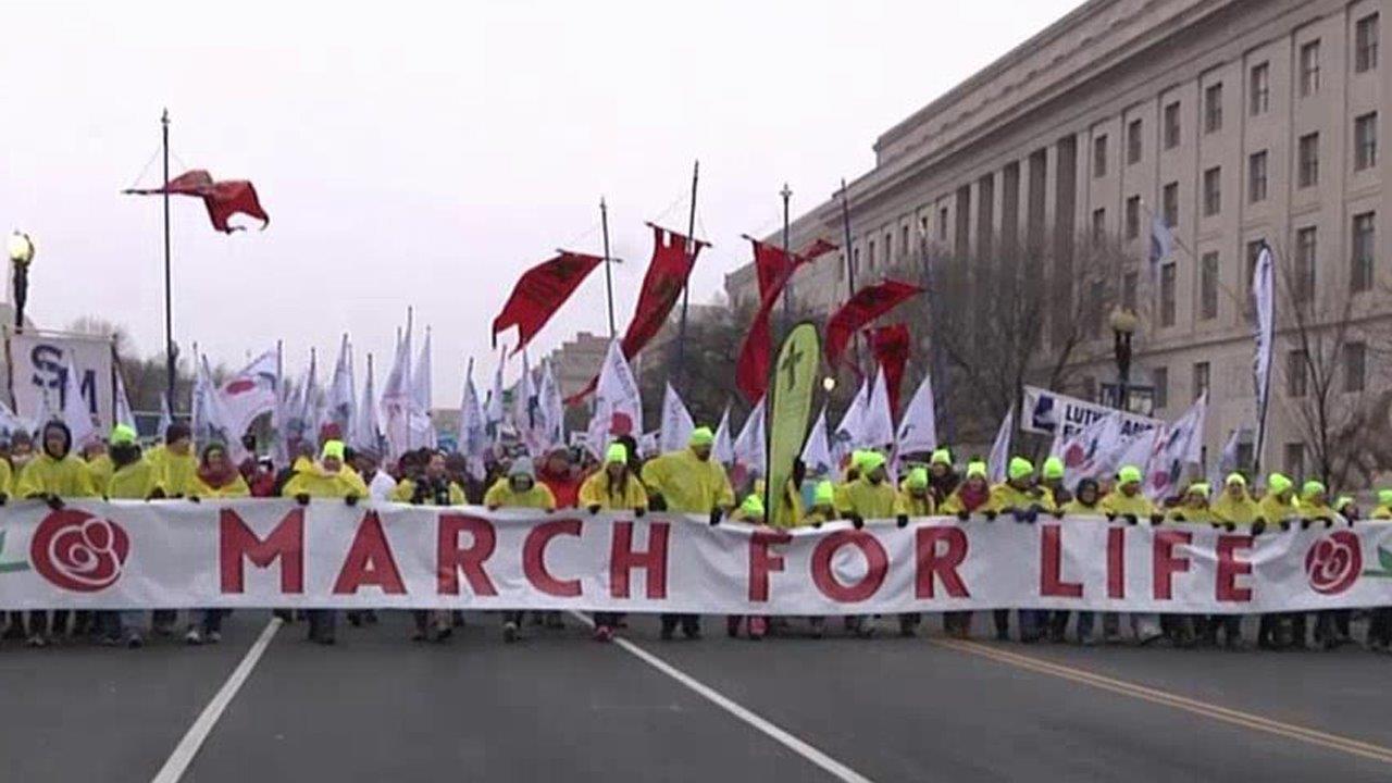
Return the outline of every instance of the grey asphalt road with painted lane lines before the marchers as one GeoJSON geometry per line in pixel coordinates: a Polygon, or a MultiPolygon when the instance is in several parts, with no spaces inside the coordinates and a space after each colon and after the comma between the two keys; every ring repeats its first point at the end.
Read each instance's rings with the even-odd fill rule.
{"type": "MultiPolygon", "coordinates": [[[[963,644],[935,621],[754,644],[715,617],[661,642],[631,620],[633,649],[572,617],[516,645],[483,614],[445,645],[406,641],[400,614],[334,648],[281,627],[178,779],[1392,779],[1392,656],[1354,648],[963,644]]],[[[0,779],[155,779],[267,621],[239,612],[203,648],[6,642],[0,779]]]]}

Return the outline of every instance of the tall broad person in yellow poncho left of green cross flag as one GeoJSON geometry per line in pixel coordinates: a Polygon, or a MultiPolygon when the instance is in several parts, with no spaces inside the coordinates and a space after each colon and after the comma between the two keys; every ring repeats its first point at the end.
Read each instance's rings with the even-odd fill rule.
{"type": "MultiPolygon", "coordinates": [[[[668,451],[649,460],[643,465],[643,483],[653,495],[654,506],[661,503],[677,514],[709,515],[711,524],[729,513],[735,506],[735,490],[729,485],[725,467],[711,460],[715,433],[709,426],[697,426],[686,440],[686,449],[668,451]]],[[[663,639],[668,641],[677,631],[689,639],[700,638],[700,616],[663,614],[663,639]]]]}

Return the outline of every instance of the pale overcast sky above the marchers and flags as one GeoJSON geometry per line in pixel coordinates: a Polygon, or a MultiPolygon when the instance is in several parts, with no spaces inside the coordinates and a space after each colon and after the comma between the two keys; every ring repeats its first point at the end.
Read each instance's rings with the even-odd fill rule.
{"type": "MultiPolygon", "coordinates": [[[[163,344],[159,199],[121,196],[173,117],[171,176],[249,178],[264,233],[174,209],[185,350],[241,364],[285,340],[322,373],[342,332],[377,358],[406,305],[434,327],[434,404],[464,362],[491,373],[489,325],[557,247],[600,252],[610,203],[619,332],[651,234],[683,228],[700,159],[692,277],[710,301],[781,223],[874,163],[876,137],[1076,0],[13,3],[0,10],[0,228],[39,248],[29,313],[92,313],[163,344]]],[[[139,184],[157,187],[159,162],[139,184]]],[[[533,343],[606,329],[596,273],[533,343]]],[[[419,339],[419,337],[418,337],[419,339]]],[[[419,343],[418,343],[419,344],[419,343]]],[[[511,375],[511,373],[509,373],[511,375]]]]}

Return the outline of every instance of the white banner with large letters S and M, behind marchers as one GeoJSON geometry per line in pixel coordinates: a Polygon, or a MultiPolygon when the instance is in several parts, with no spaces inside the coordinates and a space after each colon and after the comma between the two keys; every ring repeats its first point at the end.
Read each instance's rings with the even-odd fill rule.
{"type": "Polygon", "coordinates": [[[10,334],[10,380],[19,418],[33,421],[45,407],[52,412],[63,410],[63,379],[71,361],[78,371],[78,387],[88,412],[96,417],[97,432],[111,431],[114,401],[110,340],[32,330],[10,334]]]}

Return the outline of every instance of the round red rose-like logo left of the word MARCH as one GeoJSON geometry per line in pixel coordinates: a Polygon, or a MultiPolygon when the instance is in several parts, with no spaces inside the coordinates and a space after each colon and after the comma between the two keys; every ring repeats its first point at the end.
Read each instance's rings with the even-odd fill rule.
{"type": "Polygon", "coordinates": [[[114,585],[129,553],[131,539],[121,525],[77,509],[50,513],[29,541],[33,570],[74,592],[114,585]]]}

